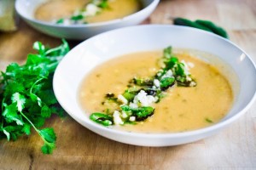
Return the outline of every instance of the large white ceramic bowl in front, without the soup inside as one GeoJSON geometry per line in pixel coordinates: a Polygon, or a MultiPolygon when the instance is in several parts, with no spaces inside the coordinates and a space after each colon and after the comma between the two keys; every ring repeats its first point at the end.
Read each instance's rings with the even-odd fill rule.
{"type": "Polygon", "coordinates": [[[167,146],[206,138],[234,122],[253,104],[256,92],[256,69],[252,59],[234,43],[207,31],[184,26],[132,26],[108,31],[73,48],[58,65],[54,76],[55,96],[67,113],[84,127],[108,139],[126,144],[167,146]],[[79,85],[96,65],[121,54],[174,48],[192,48],[214,54],[226,68],[234,71],[237,82],[230,80],[236,100],[221,122],[211,127],[184,133],[128,133],[109,129],[90,121],[78,100],[79,85]]]}

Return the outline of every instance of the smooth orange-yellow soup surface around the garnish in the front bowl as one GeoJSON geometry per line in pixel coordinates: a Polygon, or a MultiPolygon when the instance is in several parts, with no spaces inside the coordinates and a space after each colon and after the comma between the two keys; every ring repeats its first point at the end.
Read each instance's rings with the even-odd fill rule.
{"type": "MultiPolygon", "coordinates": [[[[196,87],[168,88],[154,103],[154,115],[136,125],[113,126],[131,132],[166,133],[195,130],[219,122],[230,110],[233,93],[228,80],[207,62],[179,51],[177,58],[193,65],[196,87]]],[[[127,54],[97,66],[82,82],[79,100],[86,113],[104,112],[105,94],[122,94],[133,77],[151,77],[160,69],[161,52],[127,54]]]]}

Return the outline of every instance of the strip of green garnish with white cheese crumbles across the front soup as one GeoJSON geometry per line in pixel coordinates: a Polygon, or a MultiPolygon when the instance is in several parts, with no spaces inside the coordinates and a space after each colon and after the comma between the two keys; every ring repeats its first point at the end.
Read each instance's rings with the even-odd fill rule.
{"type": "MultiPolygon", "coordinates": [[[[136,124],[146,120],[154,114],[152,103],[160,102],[166,96],[166,90],[174,86],[195,87],[196,82],[189,73],[188,66],[184,61],[179,62],[172,54],[172,47],[164,49],[162,61],[164,66],[154,77],[138,78],[134,77],[129,82],[129,87],[123,94],[116,98],[114,94],[106,94],[104,105],[108,100],[114,101],[117,108],[112,113],[92,113],[90,119],[104,126],[114,124],[136,124]],[[108,121],[108,122],[105,122],[108,121]],[[110,123],[111,122],[111,123],[110,123]]],[[[127,86],[128,87],[128,86],[127,86]]],[[[108,109],[109,111],[109,109],[108,109]]]]}

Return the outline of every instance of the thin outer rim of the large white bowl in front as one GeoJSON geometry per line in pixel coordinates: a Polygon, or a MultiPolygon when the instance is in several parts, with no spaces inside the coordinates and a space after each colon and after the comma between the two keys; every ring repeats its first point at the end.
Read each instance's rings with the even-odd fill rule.
{"type": "MultiPolygon", "coordinates": [[[[83,42],[80,42],[76,47],[74,48],[80,48],[80,46],[84,46],[84,43],[86,42],[89,42],[89,41],[92,41],[93,39],[96,39],[98,37],[102,37],[104,35],[108,35],[109,33],[111,32],[114,32],[114,31],[119,31],[119,30],[129,30],[129,29],[137,29],[137,28],[140,28],[140,27],[166,27],[168,29],[172,29],[172,28],[178,28],[178,29],[184,29],[184,30],[189,30],[189,31],[198,31],[198,32],[201,32],[203,34],[208,34],[209,36],[212,36],[212,37],[215,37],[215,38],[218,38],[218,39],[222,39],[222,41],[225,41],[225,42],[228,42],[230,45],[234,46],[235,48],[238,48],[243,54],[246,55],[247,59],[249,59],[249,62],[253,65],[253,71],[256,72],[256,65],[255,63],[253,62],[253,59],[243,50],[241,49],[240,47],[238,47],[236,45],[236,43],[234,42],[231,42],[229,39],[226,39],[224,37],[220,37],[216,34],[213,34],[211,32],[208,32],[208,31],[202,31],[202,30],[199,30],[199,29],[196,29],[196,28],[192,28],[192,27],[188,27],[188,26],[172,26],[172,25],[140,25],[140,26],[128,26],[128,27],[124,27],[124,28],[118,28],[118,29],[115,29],[115,30],[112,30],[112,31],[106,31],[106,32],[103,32],[101,34],[98,34],[94,37],[90,37],[88,38],[87,40],[84,40],[83,42]]],[[[73,48],[73,49],[74,49],[73,48]]],[[[72,49],[72,50],[73,50],[72,49]]],[[[68,53],[71,53],[72,50],[70,50],[70,52],[68,53]]],[[[67,58],[64,58],[62,60],[65,60],[67,58]]],[[[61,62],[62,62],[61,60],[61,62]]],[[[107,59],[108,60],[108,59],[107,59]]],[[[60,63],[61,64],[61,63],[60,63]]],[[[59,64],[59,65],[60,65],[59,64]]],[[[58,71],[58,67],[59,65],[57,66],[56,68],[56,71],[55,71],[55,75],[54,75],[54,79],[53,79],[53,88],[54,88],[54,91],[55,91],[55,88],[56,88],[56,82],[55,82],[55,77],[57,74],[59,74],[59,71],[58,71]]],[[[58,94],[55,94],[56,96],[56,99],[58,99],[58,94]]],[[[202,128],[199,128],[199,129],[195,129],[195,130],[189,130],[189,131],[185,131],[185,132],[178,132],[178,133],[138,133],[138,132],[127,132],[127,131],[123,131],[123,130],[118,130],[118,129],[113,129],[113,128],[109,128],[109,127],[104,127],[96,122],[92,122],[90,121],[90,119],[88,118],[88,120],[80,120],[79,116],[77,116],[76,114],[73,114],[72,111],[69,111],[69,109],[67,109],[65,107],[65,105],[63,105],[61,103],[61,101],[58,99],[61,107],[63,107],[63,109],[65,111],[67,111],[68,115],[69,116],[72,116],[74,120],[76,120],[76,122],[79,122],[82,126],[90,129],[91,131],[93,132],[97,132],[97,131],[107,131],[108,133],[114,133],[114,134],[117,134],[117,135],[120,135],[120,136],[128,136],[128,137],[140,137],[140,138],[143,138],[143,139],[154,139],[154,138],[157,138],[157,139],[178,139],[178,138],[185,138],[185,137],[189,137],[189,136],[194,136],[194,135],[199,135],[199,134],[203,134],[203,133],[210,133],[210,132],[213,132],[213,131],[217,131],[218,129],[222,128],[222,127],[226,127],[227,125],[230,124],[230,122],[234,122],[238,117],[240,117],[241,115],[243,115],[250,107],[251,105],[253,105],[253,102],[255,101],[256,99],[256,90],[254,91],[254,94],[253,94],[253,97],[249,100],[249,102],[241,109],[241,111],[237,112],[236,115],[234,116],[230,116],[230,118],[224,120],[224,121],[220,121],[220,122],[217,122],[217,123],[214,123],[212,126],[209,126],[209,127],[202,127],[202,128]],[[71,114],[70,114],[71,112],[71,114]],[[84,123],[83,123],[84,122],[84,123]],[[85,125],[84,125],[85,124],[85,125]],[[95,129],[92,129],[91,127],[95,127],[95,129]]],[[[100,134],[102,136],[105,136],[108,138],[108,135],[104,135],[104,134],[100,134]]],[[[111,138],[110,138],[111,139],[111,138]]],[[[125,142],[123,142],[125,143],[125,142]]],[[[176,144],[175,144],[176,145],[176,144]]],[[[149,145],[148,145],[149,146],[149,145]]]]}

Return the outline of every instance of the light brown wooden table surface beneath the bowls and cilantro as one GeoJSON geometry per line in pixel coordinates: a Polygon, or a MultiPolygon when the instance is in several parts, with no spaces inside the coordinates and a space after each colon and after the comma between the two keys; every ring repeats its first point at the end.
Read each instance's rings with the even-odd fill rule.
{"type": "MultiPolygon", "coordinates": [[[[172,24],[170,17],[212,20],[229,31],[235,42],[256,61],[255,0],[163,0],[144,23],[172,24]]],[[[0,70],[22,63],[34,52],[32,42],[61,43],[33,30],[20,20],[19,30],[0,33],[0,70]]],[[[70,42],[76,45],[79,42],[70,42]]],[[[192,144],[140,147],[103,138],[71,117],[51,117],[57,149],[40,152],[38,134],[15,142],[0,141],[0,169],[256,169],[256,105],[222,132],[192,144]]]]}

